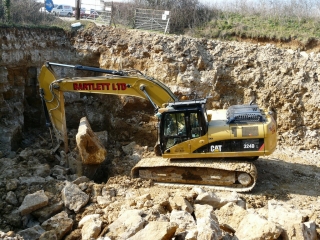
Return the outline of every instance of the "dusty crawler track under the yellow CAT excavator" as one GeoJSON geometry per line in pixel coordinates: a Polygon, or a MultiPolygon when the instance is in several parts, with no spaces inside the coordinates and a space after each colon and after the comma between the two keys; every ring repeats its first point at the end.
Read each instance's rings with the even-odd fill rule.
{"type": "Polygon", "coordinates": [[[250,162],[226,159],[144,158],[131,170],[133,178],[152,179],[172,187],[248,192],[256,184],[257,169],[250,162]]]}

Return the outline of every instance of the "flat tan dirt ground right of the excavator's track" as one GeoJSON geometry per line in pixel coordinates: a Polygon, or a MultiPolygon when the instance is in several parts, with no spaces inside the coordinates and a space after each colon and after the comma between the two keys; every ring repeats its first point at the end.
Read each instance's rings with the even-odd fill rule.
{"type": "Polygon", "coordinates": [[[320,155],[310,151],[294,151],[279,147],[269,157],[255,162],[258,180],[254,189],[242,196],[252,207],[265,205],[265,200],[277,199],[298,209],[317,206],[320,224],[320,155]],[[252,200],[250,201],[250,199],[252,200]]]}

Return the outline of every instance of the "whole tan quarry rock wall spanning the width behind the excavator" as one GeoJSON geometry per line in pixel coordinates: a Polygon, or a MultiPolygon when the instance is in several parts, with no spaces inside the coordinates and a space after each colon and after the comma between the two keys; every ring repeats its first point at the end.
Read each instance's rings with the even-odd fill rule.
{"type": "MultiPolygon", "coordinates": [[[[37,74],[45,60],[115,70],[135,68],[163,81],[178,94],[212,96],[208,108],[256,99],[260,107],[275,112],[279,143],[299,145],[301,149],[319,148],[320,127],[314,121],[320,115],[318,53],[106,27],[92,27],[74,36],[61,30],[0,31],[4,36],[0,40],[2,154],[18,148],[23,128],[39,126],[43,121],[39,117],[37,74]]],[[[74,76],[68,68],[57,67],[57,73],[60,77],[74,76]]],[[[131,134],[139,138],[141,134],[153,136],[145,139],[149,144],[155,142],[156,132],[134,132],[128,124],[148,122],[141,112],[135,113],[138,109],[145,111],[146,106],[150,108],[146,102],[80,94],[67,94],[66,99],[67,122],[73,128],[81,117],[87,116],[94,128],[107,130],[115,140],[124,140],[131,134]],[[123,129],[121,134],[119,128],[123,129]]]]}

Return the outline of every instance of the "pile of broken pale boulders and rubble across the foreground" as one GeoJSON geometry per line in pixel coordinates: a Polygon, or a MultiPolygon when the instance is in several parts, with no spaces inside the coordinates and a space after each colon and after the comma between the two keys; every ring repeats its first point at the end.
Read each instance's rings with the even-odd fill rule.
{"type": "Polygon", "coordinates": [[[317,238],[320,201],[299,209],[266,199],[253,208],[243,194],[201,186],[168,188],[127,176],[95,183],[45,149],[0,160],[1,239],[317,238]]]}

